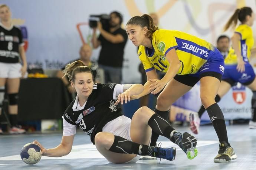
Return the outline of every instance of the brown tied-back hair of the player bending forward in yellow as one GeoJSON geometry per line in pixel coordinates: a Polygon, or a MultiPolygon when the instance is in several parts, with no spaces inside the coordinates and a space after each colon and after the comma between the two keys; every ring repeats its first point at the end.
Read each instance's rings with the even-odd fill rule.
{"type": "Polygon", "coordinates": [[[129,19],[126,25],[137,25],[143,27],[147,27],[148,31],[145,36],[152,39],[152,34],[158,30],[158,27],[155,26],[153,18],[148,14],[143,14],[142,16],[135,16],[129,19]]]}

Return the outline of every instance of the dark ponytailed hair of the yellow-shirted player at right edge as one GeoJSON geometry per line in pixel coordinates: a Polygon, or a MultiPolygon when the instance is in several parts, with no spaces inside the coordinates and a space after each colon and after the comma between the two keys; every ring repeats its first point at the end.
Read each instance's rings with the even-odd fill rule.
{"type": "Polygon", "coordinates": [[[229,18],[226,25],[224,26],[224,31],[228,30],[229,27],[236,27],[237,20],[239,20],[241,23],[244,23],[246,21],[247,15],[252,16],[252,8],[243,7],[241,9],[236,9],[234,14],[229,18]]]}

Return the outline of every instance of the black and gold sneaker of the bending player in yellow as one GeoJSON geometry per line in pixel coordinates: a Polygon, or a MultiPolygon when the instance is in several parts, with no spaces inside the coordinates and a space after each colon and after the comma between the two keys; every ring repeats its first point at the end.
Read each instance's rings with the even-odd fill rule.
{"type": "Polygon", "coordinates": [[[234,149],[226,142],[220,142],[220,149],[217,156],[214,158],[214,162],[230,162],[236,159],[237,156],[234,153],[234,149]]]}

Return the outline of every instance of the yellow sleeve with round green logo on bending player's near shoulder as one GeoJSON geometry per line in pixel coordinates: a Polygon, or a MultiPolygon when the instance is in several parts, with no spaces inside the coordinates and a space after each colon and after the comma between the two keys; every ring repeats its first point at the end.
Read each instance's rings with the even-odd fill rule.
{"type": "Polygon", "coordinates": [[[176,39],[168,31],[164,31],[164,34],[158,33],[155,38],[157,50],[166,56],[166,54],[173,48],[178,48],[176,39]]]}

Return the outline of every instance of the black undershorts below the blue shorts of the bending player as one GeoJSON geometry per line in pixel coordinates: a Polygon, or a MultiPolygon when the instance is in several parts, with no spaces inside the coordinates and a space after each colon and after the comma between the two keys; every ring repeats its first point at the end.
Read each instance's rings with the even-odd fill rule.
{"type": "Polygon", "coordinates": [[[204,72],[203,74],[200,74],[199,77],[192,75],[193,74],[175,75],[174,79],[184,85],[193,87],[202,77],[211,76],[219,79],[219,81],[221,81],[222,78],[222,75],[218,72],[204,72]]]}

